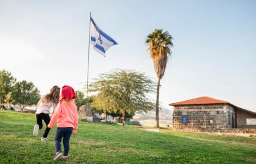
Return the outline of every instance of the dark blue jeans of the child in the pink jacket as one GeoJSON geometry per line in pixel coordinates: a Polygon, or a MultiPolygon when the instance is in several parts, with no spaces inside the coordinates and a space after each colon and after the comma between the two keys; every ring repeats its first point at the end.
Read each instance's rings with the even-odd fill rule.
{"type": "Polygon", "coordinates": [[[69,139],[71,137],[71,134],[73,132],[73,128],[57,128],[57,131],[55,132],[55,152],[60,151],[61,152],[61,146],[60,142],[62,142],[63,137],[63,146],[64,146],[64,152],[63,155],[68,155],[69,151],[69,139]]]}

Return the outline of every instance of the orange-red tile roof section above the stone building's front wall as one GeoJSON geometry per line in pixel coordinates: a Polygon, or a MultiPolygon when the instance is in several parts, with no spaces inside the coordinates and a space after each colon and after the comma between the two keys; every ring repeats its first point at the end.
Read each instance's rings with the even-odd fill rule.
{"type": "Polygon", "coordinates": [[[199,97],[191,100],[171,103],[169,105],[176,106],[176,105],[187,105],[187,104],[229,104],[229,102],[212,98],[212,97],[199,97]]]}

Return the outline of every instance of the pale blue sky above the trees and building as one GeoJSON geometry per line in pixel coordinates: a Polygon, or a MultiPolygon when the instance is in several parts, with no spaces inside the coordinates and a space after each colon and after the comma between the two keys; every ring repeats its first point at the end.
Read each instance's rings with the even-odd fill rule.
{"type": "Polygon", "coordinates": [[[209,96],[256,112],[256,1],[2,1],[0,69],[35,83],[82,89],[89,15],[119,44],[91,49],[89,77],[134,69],[156,78],[146,36],[174,38],[162,79],[162,106],[209,96]]]}

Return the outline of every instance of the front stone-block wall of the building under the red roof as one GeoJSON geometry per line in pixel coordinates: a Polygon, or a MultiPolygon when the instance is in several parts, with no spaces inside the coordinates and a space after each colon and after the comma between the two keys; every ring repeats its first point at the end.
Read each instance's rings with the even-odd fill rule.
{"type": "Polygon", "coordinates": [[[223,104],[174,106],[174,129],[224,129],[227,127],[227,112],[223,104]],[[187,116],[187,124],[182,123],[187,116]]]}

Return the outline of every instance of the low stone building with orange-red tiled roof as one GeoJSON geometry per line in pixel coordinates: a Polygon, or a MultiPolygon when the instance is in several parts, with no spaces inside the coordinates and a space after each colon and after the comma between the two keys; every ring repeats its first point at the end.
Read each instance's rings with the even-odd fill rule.
{"type": "Polygon", "coordinates": [[[228,101],[199,97],[169,104],[174,106],[174,129],[251,129],[256,128],[256,113],[228,101]]]}

